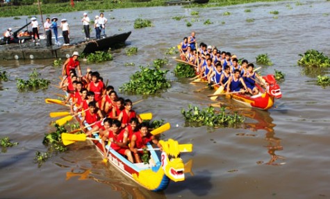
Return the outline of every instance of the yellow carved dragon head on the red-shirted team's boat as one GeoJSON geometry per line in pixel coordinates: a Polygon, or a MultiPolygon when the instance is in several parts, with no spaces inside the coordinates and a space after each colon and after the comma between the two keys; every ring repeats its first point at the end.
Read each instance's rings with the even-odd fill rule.
{"type": "Polygon", "coordinates": [[[160,140],[159,143],[163,148],[161,163],[165,175],[174,182],[185,180],[185,165],[180,153],[191,152],[192,144],[179,144],[178,141],[173,139],[160,140]]]}

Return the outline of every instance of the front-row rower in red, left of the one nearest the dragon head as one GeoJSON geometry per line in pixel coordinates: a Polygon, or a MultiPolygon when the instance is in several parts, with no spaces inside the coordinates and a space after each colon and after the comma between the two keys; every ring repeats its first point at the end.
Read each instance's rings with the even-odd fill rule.
{"type": "MultiPolygon", "coordinates": [[[[131,150],[129,150],[129,132],[122,128],[122,123],[120,121],[113,121],[113,126],[108,130],[108,133],[105,133],[102,137],[102,146],[104,148],[104,152],[106,152],[106,140],[111,142],[110,147],[113,150],[117,151],[120,155],[126,155],[129,162],[133,163],[133,156],[131,150]]],[[[108,153],[104,153],[104,158],[108,159],[106,156],[108,153]]]]}

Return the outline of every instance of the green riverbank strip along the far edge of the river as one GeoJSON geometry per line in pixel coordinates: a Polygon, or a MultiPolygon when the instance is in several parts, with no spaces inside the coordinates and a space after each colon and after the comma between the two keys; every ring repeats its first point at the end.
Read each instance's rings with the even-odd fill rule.
{"type": "MultiPolygon", "coordinates": [[[[268,1],[281,1],[281,0],[211,0],[207,4],[192,3],[186,5],[187,7],[219,7],[219,6],[231,6],[243,3],[255,3],[255,2],[268,2],[268,1]]],[[[151,0],[145,2],[124,2],[124,1],[76,1],[74,7],[70,6],[69,1],[67,3],[49,3],[42,5],[43,14],[61,13],[61,12],[75,12],[81,10],[100,10],[100,12],[116,9],[116,8],[140,8],[140,7],[152,7],[152,6],[165,6],[166,1],[163,0],[151,0]]],[[[0,17],[17,17],[27,15],[29,17],[40,15],[38,6],[4,6],[0,8],[0,17]]]]}

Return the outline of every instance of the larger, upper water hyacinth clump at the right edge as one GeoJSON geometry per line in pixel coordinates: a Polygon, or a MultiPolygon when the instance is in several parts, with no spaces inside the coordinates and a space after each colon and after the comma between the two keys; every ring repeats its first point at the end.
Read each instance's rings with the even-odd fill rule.
{"type": "Polygon", "coordinates": [[[304,55],[299,54],[302,58],[297,61],[300,67],[330,67],[330,58],[314,49],[308,50],[304,55]]]}

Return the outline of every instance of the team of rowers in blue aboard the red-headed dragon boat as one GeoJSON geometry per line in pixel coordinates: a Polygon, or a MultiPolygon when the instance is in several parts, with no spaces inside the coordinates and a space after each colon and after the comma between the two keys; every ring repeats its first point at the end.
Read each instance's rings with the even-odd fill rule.
{"type": "Polygon", "coordinates": [[[254,72],[254,64],[242,60],[238,64],[236,55],[220,51],[203,42],[196,46],[195,32],[189,37],[184,37],[178,46],[181,59],[195,66],[200,78],[206,78],[208,85],[222,85],[226,92],[241,92],[256,95],[259,92],[255,83],[258,79],[263,85],[263,79],[254,72]]]}

